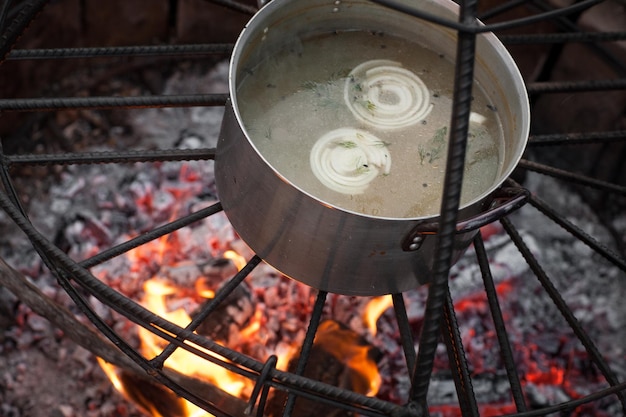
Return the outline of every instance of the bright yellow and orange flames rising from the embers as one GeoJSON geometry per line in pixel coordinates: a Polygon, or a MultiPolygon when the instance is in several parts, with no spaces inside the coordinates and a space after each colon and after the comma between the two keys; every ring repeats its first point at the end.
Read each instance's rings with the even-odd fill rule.
{"type": "MultiPolygon", "coordinates": [[[[128,259],[132,265],[131,269],[139,271],[147,265],[163,265],[175,262],[176,254],[180,250],[179,245],[178,238],[170,236],[169,238],[164,237],[132,250],[128,253],[128,259]]],[[[224,248],[222,247],[221,249],[223,250],[224,248]]],[[[240,271],[245,267],[246,259],[239,253],[234,250],[225,250],[223,252],[222,250],[219,251],[221,252],[221,257],[229,259],[237,270],[240,271]]],[[[198,279],[194,284],[194,290],[195,295],[198,297],[210,299],[215,296],[215,289],[210,288],[206,280],[198,279]]],[[[168,278],[157,275],[144,282],[143,297],[140,303],[154,314],[184,328],[192,319],[187,310],[183,307],[178,307],[180,303],[176,302],[176,296],[180,296],[181,291],[181,288],[169,281],[168,278]],[[176,307],[173,307],[174,305],[176,307]]],[[[188,291],[188,289],[185,291],[188,291]]],[[[391,296],[377,297],[369,302],[363,320],[372,335],[376,334],[378,318],[391,305],[391,296]]],[[[264,311],[257,309],[248,323],[246,323],[246,326],[240,329],[237,339],[246,341],[245,343],[265,343],[262,339],[267,337],[267,335],[260,330],[263,329],[266,321],[267,317],[264,311]]],[[[140,340],[140,353],[146,358],[158,356],[167,345],[167,342],[161,337],[144,328],[138,329],[138,338],[140,340]]],[[[187,343],[193,345],[190,342],[187,343]]],[[[315,343],[324,345],[324,349],[327,352],[335,356],[337,360],[342,361],[351,370],[351,383],[355,391],[366,395],[375,395],[378,392],[381,377],[378,373],[376,361],[372,358],[373,348],[369,344],[364,343],[358,334],[336,322],[322,323],[315,343]]],[[[193,345],[193,347],[208,355],[217,356],[197,345],[193,345]]],[[[299,350],[300,347],[295,342],[279,342],[273,352],[277,356],[277,369],[288,369],[291,359],[298,354],[299,350]]],[[[226,361],[224,358],[220,359],[226,361]]],[[[101,366],[118,391],[135,401],[140,407],[146,409],[151,416],[161,416],[161,413],[154,409],[149,402],[146,403],[141,399],[137,400],[134,394],[135,390],[130,386],[126,386],[129,382],[119,377],[119,370],[103,361],[101,361],[101,366]]],[[[238,398],[245,399],[253,388],[253,381],[250,379],[234,374],[220,365],[206,361],[181,348],[176,349],[168,357],[164,366],[219,387],[228,394],[238,398]]],[[[180,415],[185,417],[210,416],[206,411],[188,403],[184,399],[175,398],[172,401],[177,404],[180,401],[178,409],[183,410],[180,415]]]]}

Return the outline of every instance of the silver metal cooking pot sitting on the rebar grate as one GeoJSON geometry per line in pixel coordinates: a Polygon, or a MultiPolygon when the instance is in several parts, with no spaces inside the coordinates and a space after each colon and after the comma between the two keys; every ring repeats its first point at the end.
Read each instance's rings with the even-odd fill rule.
{"type": "MultiPolygon", "coordinates": [[[[425,12],[458,19],[449,0],[405,0],[425,12]]],[[[335,207],[287,180],[258,151],[244,128],[238,86],[245,71],[285,42],[342,30],[391,33],[419,40],[454,56],[456,32],[364,0],[273,0],[248,23],[230,63],[230,100],[215,158],[216,182],[225,213],[241,238],[267,263],[312,287],[350,295],[398,293],[427,283],[431,275],[438,216],[387,218],[335,207]]],[[[486,210],[511,210],[524,193],[497,205],[502,182],[517,165],[529,130],[522,77],[493,34],[478,37],[475,78],[497,106],[505,136],[497,180],[463,205],[455,258],[470,245],[486,210]]],[[[303,117],[310,117],[303,115],[303,117]]]]}

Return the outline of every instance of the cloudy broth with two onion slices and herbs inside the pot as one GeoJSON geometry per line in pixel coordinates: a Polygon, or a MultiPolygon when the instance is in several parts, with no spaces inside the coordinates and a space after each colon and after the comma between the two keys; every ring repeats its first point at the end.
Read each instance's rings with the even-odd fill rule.
{"type": "MultiPolygon", "coordinates": [[[[453,64],[391,35],[316,36],[242,71],[248,135],[281,175],[336,207],[377,217],[436,215],[452,110],[453,64]]],[[[497,110],[474,86],[461,204],[495,183],[497,110]]]]}

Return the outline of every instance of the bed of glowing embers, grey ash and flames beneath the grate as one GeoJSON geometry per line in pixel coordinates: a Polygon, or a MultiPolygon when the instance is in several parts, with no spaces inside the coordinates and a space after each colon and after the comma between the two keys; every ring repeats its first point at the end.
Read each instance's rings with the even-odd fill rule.
{"type": "MultiPolygon", "coordinates": [[[[45,3],[29,1],[14,10],[3,10],[11,22],[6,25],[6,36],[0,44],[3,55],[45,3]]],[[[398,7],[386,1],[377,3],[398,7]]],[[[475,25],[473,17],[477,12],[473,2],[462,5],[461,23],[441,21],[419,9],[402,7],[416,19],[430,19],[459,31],[444,203],[438,224],[425,224],[419,231],[437,235],[434,272],[427,286],[382,298],[347,297],[313,290],[271,270],[224,218],[210,179],[212,164],[208,162],[215,155],[216,136],[203,139],[189,130],[169,145],[171,149],[99,148],[96,152],[89,145],[54,154],[20,151],[19,147],[3,153],[0,205],[5,218],[26,235],[41,263],[27,264],[20,261],[23,256],[6,252],[12,266],[0,264],[2,285],[21,303],[53,321],[66,336],[113,363],[111,378],[152,415],[186,415],[188,406],[178,397],[217,416],[424,416],[427,410],[430,415],[446,416],[531,416],[556,412],[621,415],[626,409],[624,353],[617,346],[619,342],[615,343],[623,331],[620,312],[608,307],[601,314],[589,311],[599,304],[617,304],[615,297],[619,299],[620,287],[616,282],[623,276],[626,264],[622,256],[598,243],[589,231],[571,220],[568,210],[574,207],[574,215],[580,215],[583,202],[574,197],[552,199],[552,181],[529,174],[526,178],[516,176],[506,185],[519,189],[517,182],[523,182],[536,195],[522,194],[521,200],[502,205],[488,218],[480,219],[478,225],[459,223],[457,217],[463,178],[463,164],[459,161],[465,157],[464,138],[470,116],[471,82],[468,84],[467,80],[472,79],[474,41],[480,36],[477,33],[535,21],[556,24],[563,16],[582,13],[595,3],[584,1],[553,12],[532,10],[528,18],[489,23],[491,16],[506,9],[496,8],[481,16],[486,26],[475,25]],[[141,165],[133,170],[129,163],[141,165]],[[71,218],[68,224],[46,224],[47,220],[40,217],[46,210],[37,209],[34,188],[28,192],[22,188],[24,183],[34,181],[16,172],[23,175],[26,168],[40,165],[72,165],[55,172],[58,180],[47,178],[41,182],[45,194],[56,198],[50,200],[50,219],[71,218]],[[549,203],[540,198],[542,192],[549,203]],[[533,207],[516,211],[526,201],[533,207]],[[84,209],[64,217],[72,207],[84,209]],[[548,224],[556,224],[568,233],[553,231],[528,214],[534,213],[534,209],[542,214],[540,218],[548,219],[548,224]],[[518,228],[515,224],[537,226],[524,230],[525,226],[518,228]],[[63,238],[48,234],[49,227],[62,230],[63,238]],[[479,227],[473,249],[452,268],[455,235],[479,227]],[[567,246],[568,250],[553,252],[556,245],[567,246]],[[583,247],[592,251],[585,252],[583,247]],[[602,261],[584,255],[589,253],[602,261]],[[555,264],[556,269],[549,262],[555,256],[563,257],[555,264]],[[519,262],[522,259],[525,262],[519,262]],[[40,291],[25,278],[47,275],[42,272],[44,265],[58,281],[60,290],[50,287],[40,291]],[[580,271],[571,265],[597,271],[600,280],[585,284],[582,279],[572,279],[580,271]],[[562,277],[565,273],[569,276],[562,277]],[[533,277],[537,284],[528,284],[533,277]],[[601,291],[587,285],[613,290],[601,291]],[[582,289],[577,294],[584,297],[572,299],[575,288],[582,289]],[[71,298],[76,315],[59,308],[61,295],[71,298]],[[364,317],[366,311],[372,310],[378,310],[373,318],[364,317]],[[179,313],[185,315],[175,317],[179,313]],[[92,330],[91,324],[97,331],[92,330]],[[530,334],[534,338],[527,339],[530,334]],[[103,336],[113,343],[105,343],[103,336]],[[170,364],[182,355],[191,358],[191,369],[183,369],[179,364],[170,369],[170,364]],[[216,387],[216,380],[226,377],[207,379],[198,374],[201,369],[209,374],[227,371],[229,378],[234,376],[232,390],[225,385],[216,387]]],[[[242,9],[241,5],[231,6],[242,9]]],[[[595,46],[602,40],[623,39],[624,33],[604,36],[565,31],[559,36],[545,34],[529,39],[508,35],[503,40],[514,44],[583,39],[595,46]]],[[[181,49],[177,48],[189,51],[185,53],[227,55],[230,51],[228,46],[215,45],[18,49],[7,59],[139,53],[164,56],[180,54],[181,49]]],[[[554,65],[550,61],[546,59],[546,71],[554,65]]],[[[619,72],[623,60],[613,65],[619,72]]],[[[209,76],[203,81],[212,77],[217,85],[224,82],[220,78],[224,64],[212,66],[205,73],[209,76]]],[[[189,78],[194,72],[176,74],[189,78]]],[[[63,122],[66,130],[61,136],[83,134],[82,120],[89,121],[90,129],[104,126],[106,123],[94,117],[98,113],[90,112],[94,109],[125,109],[130,113],[135,110],[129,109],[138,107],[193,107],[197,111],[190,109],[185,115],[190,117],[190,123],[211,124],[216,115],[207,107],[222,106],[225,90],[185,94],[177,90],[176,77],[172,80],[159,95],[117,96],[124,91],[121,86],[106,97],[7,98],[0,101],[0,108],[5,112],[35,114],[82,112],[81,117],[63,122]]],[[[539,80],[543,81],[541,76],[539,80]]],[[[527,84],[537,106],[543,95],[574,94],[595,88],[619,91],[623,82],[527,84]]],[[[159,125],[165,113],[157,113],[153,119],[142,114],[134,124],[137,130],[158,136],[156,132],[171,127],[171,123],[159,125]]],[[[218,112],[218,122],[219,119],[218,112]]],[[[541,131],[540,127],[536,130],[541,131]]],[[[118,134],[124,137],[123,132],[118,134]]],[[[571,141],[568,145],[602,138],[609,142],[624,136],[623,132],[611,131],[570,138],[568,131],[558,131],[556,135],[536,134],[529,145],[559,144],[564,139],[571,141]]],[[[7,142],[5,149],[8,145],[7,142]]],[[[520,166],[527,171],[576,180],[598,192],[621,196],[625,193],[619,183],[534,162],[542,157],[530,152],[533,162],[523,159],[520,166]]],[[[43,197],[41,200],[46,201],[43,197]]],[[[30,320],[28,326],[37,328],[37,320],[30,320]]],[[[6,410],[1,412],[10,412],[6,410]]]]}

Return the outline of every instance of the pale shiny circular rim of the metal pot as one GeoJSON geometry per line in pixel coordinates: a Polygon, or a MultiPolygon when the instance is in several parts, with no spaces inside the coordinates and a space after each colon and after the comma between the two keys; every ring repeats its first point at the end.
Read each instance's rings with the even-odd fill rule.
{"type": "MultiPolygon", "coordinates": [[[[237,41],[235,42],[233,52],[231,54],[231,58],[229,62],[229,69],[228,69],[228,84],[229,84],[228,88],[229,88],[229,95],[230,95],[229,103],[233,108],[234,116],[237,120],[239,128],[244,133],[244,136],[248,144],[252,147],[252,149],[254,149],[254,152],[257,154],[257,156],[261,158],[261,160],[265,163],[265,165],[268,168],[270,168],[278,178],[280,178],[283,182],[288,184],[290,187],[293,187],[294,189],[296,189],[298,192],[308,196],[312,200],[327,207],[328,209],[338,210],[346,214],[351,214],[351,215],[366,218],[366,219],[382,220],[382,221],[419,221],[419,222],[422,222],[422,221],[432,221],[433,219],[439,218],[440,213],[429,214],[429,215],[424,215],[424,216],[415,216],[415,217],[377,216],[377,215],[359,213],[356,211],[352,211],[352,210],[334,205],[302,189],[293,181],[286,178],[280,171],[278,171],[266,159],[263,153],[259,151],[256,144],[250,137],[250,134],[248,133],[247,129],[245,128],[245,125],[242,120],[242,116],[239,112],[239,104],[237,100],[237,85],[236,85],[237,67],[240,63],[240,59],[239,59],[240,55],[242,51],[244,50],[244,48],[246,47],[245,42],[248,41],[248,39],[246,39],[248,37],[248,33],[253,30],[252,29],[253,27],[258,26],[260,24],[260,23],[257,23],[257,21],[260,21],[262,23],[266,15],[271,14],[274,9],[281,7],[280,5],[281,3],[285,3],[289,1],[292,1],[292,0],[272,0],[271,2],[263,6],[254,16],[252,16],[252,18],[249,20],[249,22],[246,24],[244,29],[239,34],[239,37],[237,38],[237,41]]],[[[458,16],[460,7],[458,4],[454,3],[452,0],[432,0],[432,1],[434,3],[437,3],[439,6],[443,6],[447,8],[449,11],[454,13],[455,16],[458,16]]],[[[397,13],[402,13],[402,12],[397,12],[397,13]]],[[[479,24],[482,25],[483,23],[479,21],[479,24]]],[[[267,27],[265,30],[267,30],[267,27]]],[[[511,95],[513,95],[513,93],[516,93],[515,96],[519,98],[520,100],[519,105],[521,108],[521,112],[523,113],[520,115],[519,120],[526,121],[526,123],[523,123],[523,125],[520,128],[519,135],[518,135],[518,139],[523,143],[523,145],[519,146],[519,151],[517,152],[515,157],[510,160],[506,169],[503,170],[503,168],[505,167],[503,166],[501,162],[500,163],[501,166],[499,167],[499,173],[497,175],[496,180],[493,182],[493,184],[487,190],[485,190],[478,196],[459,205],[459,208],[458,208],[459,212],[463,211],[466,208],[469,208],[469,207],[478,205],[481,202],[484,202],[494,193],[494,191],[496,191],[506,181],[506,179],[515,170],[515,168],[517,168],[517,165],[524,153],[524,149],[526,147],[528,136],[530,133],[530,103],[528,100],[526,89],[524,87],[524,80],[517,64],[515,63],[513,57],[508,52],[506,47],[502,44],[502,42],[498,39],[498,37],[494,33],[485,32],[485,33],[480,33],[477,36],[482,37],[490,45],[490,47],[492,47],[498,53],[500,59],[502,60],[502,63],[507,67],[509,71],[509,75],[515,81],[514,91],[511,93],[511,95]]],[[[478,52],[476,53],[475,62],[477,58],[479,58],[478,52]]],[[[468,114],[468,117],[469,117],[469,114],[468,114]]],[[[506,132],[504,134],[506,135],[506,132]]],[[[448,139],[449,137],[450,136],[448,136],[448,139]]],[[[447,156],[446,156],[446,173],[447,173],[447,156]]]]}

